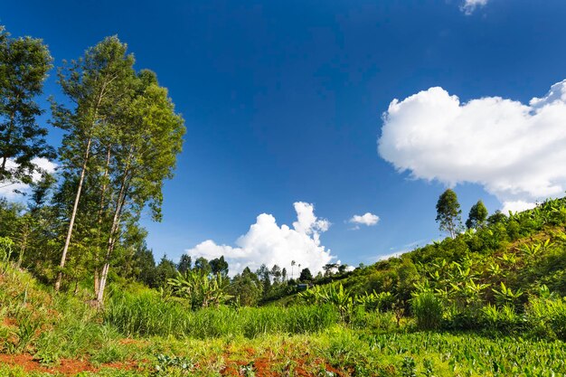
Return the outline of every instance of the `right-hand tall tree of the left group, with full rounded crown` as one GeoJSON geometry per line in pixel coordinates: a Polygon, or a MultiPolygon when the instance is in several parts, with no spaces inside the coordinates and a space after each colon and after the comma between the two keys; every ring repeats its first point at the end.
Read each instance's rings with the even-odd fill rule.
{"type": "Polygon", "coordinates": [[[96,292],[100,303],[124,212],[129,217],[136,217],[147,208],[154,220],[161,220],[163,183],[173,177],[185,132],[183,118],[175,113],[175,106],[167,90],[157,83],[155,73],[141,71],[134,90],[131,101],[125,103],[125,117],[120,119],[117,144],[112,148],[114,156],[109,166],[115,194],[108,244],[96,292]]]}

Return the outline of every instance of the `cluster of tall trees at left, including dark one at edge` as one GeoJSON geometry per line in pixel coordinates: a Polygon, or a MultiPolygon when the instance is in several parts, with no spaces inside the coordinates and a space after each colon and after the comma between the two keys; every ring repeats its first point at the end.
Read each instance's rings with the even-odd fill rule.
{"type": "Polygon", "coordinates": [[[88,279],[99,302],[108,278],[131,274],[135,254],[146,250],[139,218],[161,219],[163,183],[185,132],[156,73],[134,63],[116,36],[63,62],[64,99],[50,99],[49,122],[63,133],[55,150],[37,122],[50,52],[0,26],[0,185],[32,187],[26,203],[0,201],[0,237],[13,242],[18,264],[56,290],[88,279]],[[56,175],[46,159],[56,159],[56,175]]]}

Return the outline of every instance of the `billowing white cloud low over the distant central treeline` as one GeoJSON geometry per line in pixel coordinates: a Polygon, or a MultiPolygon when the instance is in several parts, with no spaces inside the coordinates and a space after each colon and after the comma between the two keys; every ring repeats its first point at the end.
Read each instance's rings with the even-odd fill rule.
{"type": "MultiPolygon", "coordinates": [[[[281,269],[286,268],[290,276],[292,260],[300,264],[301,269],[308,268],[316,273],[335,259],[330,250],[320,244],[320,233],[328,230],[330,222],[316,217],[313,204],[297,202],[294,206],[297,221],[293,222],[293,229],[285,224],[279,227],[275,217],[261,213],[250,230],[236,240],[236,247],[205,240],[186,252],[193,259],[210,260],[223,255],[230,265],[231,276],[246,267],[252,271],[259,269],[261,264],[269,268],[277,264],[281,269]]],[[[298,267],[293,269],[297,277],[298,267]]]]}

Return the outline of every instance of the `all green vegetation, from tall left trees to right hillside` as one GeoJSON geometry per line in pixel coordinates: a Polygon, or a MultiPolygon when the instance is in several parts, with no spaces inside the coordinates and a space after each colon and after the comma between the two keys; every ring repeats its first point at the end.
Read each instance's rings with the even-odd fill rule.
{"type": "Polygon", "coordinates": [[[566,373],[566,199],[491,216],[478,201],[464,231],[448,189],[448,238],[353,271],[156,263],[138,219],[160,219],[184,136],[156,74],[117,37],[61,69],[48,174],[33,162],[53,153],[33,99],[51,58],[4,29],[0,46],[0,180],[32,186],[26,203],[0,200],[0,375],[566,373]]]}

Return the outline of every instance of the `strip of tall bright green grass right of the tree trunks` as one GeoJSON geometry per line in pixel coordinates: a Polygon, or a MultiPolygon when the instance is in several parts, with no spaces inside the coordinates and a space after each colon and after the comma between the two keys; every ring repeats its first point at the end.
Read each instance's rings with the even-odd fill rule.
{"type": "Polygon", "coordinates": [[[207,338],[316,332],[339,321],[333,306],[266,306],[204,308],[191,311],[183,303],[163,300],[152,292],[117,294],[108,302],[105,323],[125,335],[173,335],[207,338]]]}

